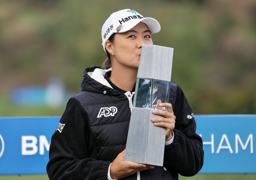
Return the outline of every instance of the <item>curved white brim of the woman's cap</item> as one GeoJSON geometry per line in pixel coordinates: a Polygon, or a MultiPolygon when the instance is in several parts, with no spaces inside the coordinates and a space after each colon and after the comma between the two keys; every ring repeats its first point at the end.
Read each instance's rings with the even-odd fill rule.
{"type": "Polygon", "coordinates": [[[154,18],[141,18],[139,21],[128,21],[123,23],[123,28],[119,32],[126,32],[132,29],[134,26],[140,22],[145,23],[151,33],[157,33],[161,30],[161,26],[158,21],[154,18]]]}

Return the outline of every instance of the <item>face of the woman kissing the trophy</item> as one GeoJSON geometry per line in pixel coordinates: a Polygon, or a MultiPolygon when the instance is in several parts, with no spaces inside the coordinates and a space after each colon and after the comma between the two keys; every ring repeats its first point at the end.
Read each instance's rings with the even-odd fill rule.
{"type": "Polygon", "coordinates": [[[143,44],[153,44],[148,26],[142,22],[127,32],[116,33],[112,43],[112,67],[138,68],[143,44]]]}

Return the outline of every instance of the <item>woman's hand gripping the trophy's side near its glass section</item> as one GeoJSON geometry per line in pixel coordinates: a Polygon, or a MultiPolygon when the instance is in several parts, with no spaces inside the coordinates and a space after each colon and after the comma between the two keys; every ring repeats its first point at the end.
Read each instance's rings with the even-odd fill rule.
{"type": "Polygon", "coordinates": [[[161,103],[161,100],[157,100],[157,109],[153,110],[153,114],[163,116],[162,118],[152,118],[151,121],[155,126],[161,126],[166,128],[165,141],[172,139],[172,130],[174,129],[175,119],[172,104],[170,103],[161,103]],[[163,111],[162,107],[166,107],[167,111],[163,111]],[[160,110],[159,110],[160,109],[160,110]]]}

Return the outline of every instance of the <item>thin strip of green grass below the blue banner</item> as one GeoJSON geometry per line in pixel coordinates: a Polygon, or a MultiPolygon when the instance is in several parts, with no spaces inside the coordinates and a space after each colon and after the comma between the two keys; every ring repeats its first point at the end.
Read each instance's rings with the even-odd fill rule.
{"type": "MultiPolygon", "coordinates": [[[[180,176],[179,180],[255,180],[256,174],[197,174],[193,177],[180,176]]],[[[0,176],[0,180],[49,180],[47,175],[0,176]]]]}

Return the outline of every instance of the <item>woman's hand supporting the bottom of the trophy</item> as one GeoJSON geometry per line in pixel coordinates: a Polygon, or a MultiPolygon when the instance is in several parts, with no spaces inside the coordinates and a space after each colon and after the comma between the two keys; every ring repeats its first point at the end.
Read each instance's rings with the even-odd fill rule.
{"type": "Polygon", "coordinates": [[[121,179],[138,171],[154,168],[153,165],[124,161],[124,154],[125,149],[117,155],[110,166],[110,177],[112,179],[121,179]]]}

